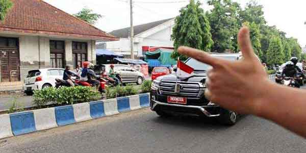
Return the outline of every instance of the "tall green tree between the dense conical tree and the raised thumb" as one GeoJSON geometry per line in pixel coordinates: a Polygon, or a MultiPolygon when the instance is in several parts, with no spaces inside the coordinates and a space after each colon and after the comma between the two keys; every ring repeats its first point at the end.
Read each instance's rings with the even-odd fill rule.
{"type": "Polygon", "coordinates": [[[237,51],[237,33],[239,31],[238,12],[240,6],[232,0],[209,0],[213,9],[207,13],[211,25],[213,52],[223,53],[230,49],[237,51]]]}

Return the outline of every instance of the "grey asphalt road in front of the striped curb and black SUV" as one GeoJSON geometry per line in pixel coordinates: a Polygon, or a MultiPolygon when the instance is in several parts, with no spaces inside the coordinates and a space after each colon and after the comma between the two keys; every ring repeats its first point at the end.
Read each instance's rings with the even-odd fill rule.
{"type": "Polygon", "coordinates": [[[305,152],[306,141],[251,115],[234,126],[142,109],[0,140],[0,152],[305,152]]]}

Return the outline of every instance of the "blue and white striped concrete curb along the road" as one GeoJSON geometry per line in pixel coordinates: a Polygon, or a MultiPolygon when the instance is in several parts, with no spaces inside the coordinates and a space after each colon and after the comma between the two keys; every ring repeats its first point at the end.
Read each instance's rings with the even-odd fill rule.
{"type": "Polygon", "coordinates": [[[0,139],[149,106],[149,94],[0,115],[0,139]]]}

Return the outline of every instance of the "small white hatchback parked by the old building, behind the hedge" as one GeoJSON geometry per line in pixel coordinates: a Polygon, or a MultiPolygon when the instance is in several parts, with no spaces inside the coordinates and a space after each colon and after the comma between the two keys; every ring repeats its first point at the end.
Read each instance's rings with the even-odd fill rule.
{"type": "Polygon", "coordinates": [[[29,71],[23,82],[24,93],[33,95],[34,90],[55,87],[55,79],[62,79],[64,70],[63,68],[44,68],[29,71]]]}

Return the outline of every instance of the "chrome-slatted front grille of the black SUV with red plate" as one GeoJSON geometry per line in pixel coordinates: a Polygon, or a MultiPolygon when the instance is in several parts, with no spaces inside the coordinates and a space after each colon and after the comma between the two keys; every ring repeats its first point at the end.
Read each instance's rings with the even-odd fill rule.
{"type": "Polygon", "coordinates": [[[164,95],[181,95],[188,97],[197,97],[200,85],[199,83],[191,83],[191,82],[177,82],[177,84],[181,85],[180,93],[175,93],[176,82],[172,81],[162,81],[160,83],[160,91],[164,95]]]}

